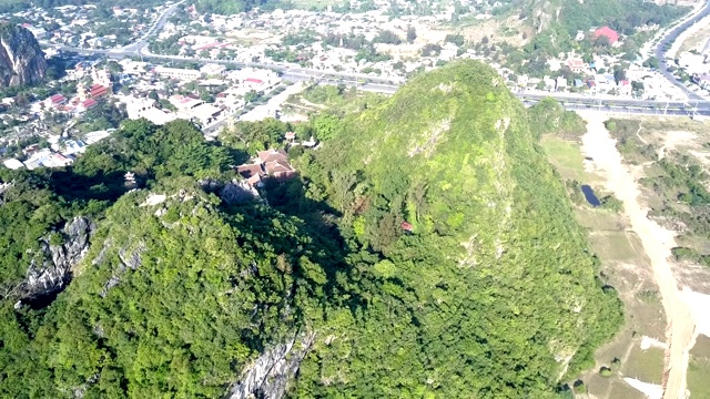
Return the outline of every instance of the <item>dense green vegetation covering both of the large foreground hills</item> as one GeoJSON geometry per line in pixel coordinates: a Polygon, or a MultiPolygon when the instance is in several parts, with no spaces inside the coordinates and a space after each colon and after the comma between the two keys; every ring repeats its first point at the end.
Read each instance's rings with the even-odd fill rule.
{"type": "MultiPolygon", "coordinates": [[[[318,117],[303,129],[323,146],[291,151],[302,176],[268,182],[270,206],[222,201],[204,178],[233,178],[245,146],[182,121],[128,122],[67,171],[3,172],[3,284],[70,217],[98,232],[49,307],[0,301],[0,396],[222,397],[298,331],[316,340],[294,398],[546,398],[590,366],[619,301],[495,71],[452,64],[318,117]]],[[[280,123],[225,134],[271,144],[280,123]]]]}

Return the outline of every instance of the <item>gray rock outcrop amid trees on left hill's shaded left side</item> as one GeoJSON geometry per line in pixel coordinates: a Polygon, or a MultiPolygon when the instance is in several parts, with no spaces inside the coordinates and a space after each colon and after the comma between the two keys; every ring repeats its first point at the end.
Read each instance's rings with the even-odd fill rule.
{"type": "Polygon", "coordinates": [[[89,218],[74,217],[55,233],[62,237],[61,244],[53,244],[50,237],[42,238],[41,256],[36,257],[28,268],[21,297],[36,298],[62,289],[71,280],[72,267],[87,256],[94,228],[89,218]]]}

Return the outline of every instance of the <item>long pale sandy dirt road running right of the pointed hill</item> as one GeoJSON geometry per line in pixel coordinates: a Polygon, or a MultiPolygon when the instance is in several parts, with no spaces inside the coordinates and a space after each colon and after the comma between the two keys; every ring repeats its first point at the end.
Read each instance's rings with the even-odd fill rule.
{"type": "Polygon", "coordinates": [[[668,260],[671,248],[676,246],[674,234],[647,217],[649,209],[639,202],[639,186],[629,168],[623,165],[616,141],[604,125],[605,119],[599,117],[599,114],[580,112],[580,115],[587,122],[581,150],[585,156],[592,158],[587,166],[602,175],[606,188],[623,202],[625,214],[651,260],[653,278],[662,297],[668,320],[663,398],[686,398],[686,372],[689,351],[694,344],[696,325],[668,260]]]}

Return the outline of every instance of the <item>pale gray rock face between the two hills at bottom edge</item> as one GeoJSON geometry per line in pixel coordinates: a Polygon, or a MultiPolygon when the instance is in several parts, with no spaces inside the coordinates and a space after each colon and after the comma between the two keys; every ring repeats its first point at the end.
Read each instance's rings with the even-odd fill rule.
{"type": "Polygon", "coordinates": [[[296,375],[315,340],[315,332],[302,334],[263,352],[247,367],[229,399],[281,399],[288,380],[296,375]]]}

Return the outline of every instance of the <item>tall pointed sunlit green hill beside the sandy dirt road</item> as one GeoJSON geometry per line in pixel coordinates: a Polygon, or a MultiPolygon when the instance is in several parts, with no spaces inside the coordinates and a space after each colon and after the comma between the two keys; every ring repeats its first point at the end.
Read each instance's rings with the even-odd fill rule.
{"type": "Polygon", "coordinates": [[[618,300],[493,69],[415,79],[300,166],[306,192],[342,213],[373,288],[307,358],[295,397],[539,398],[615,332],[618,300]]]}

